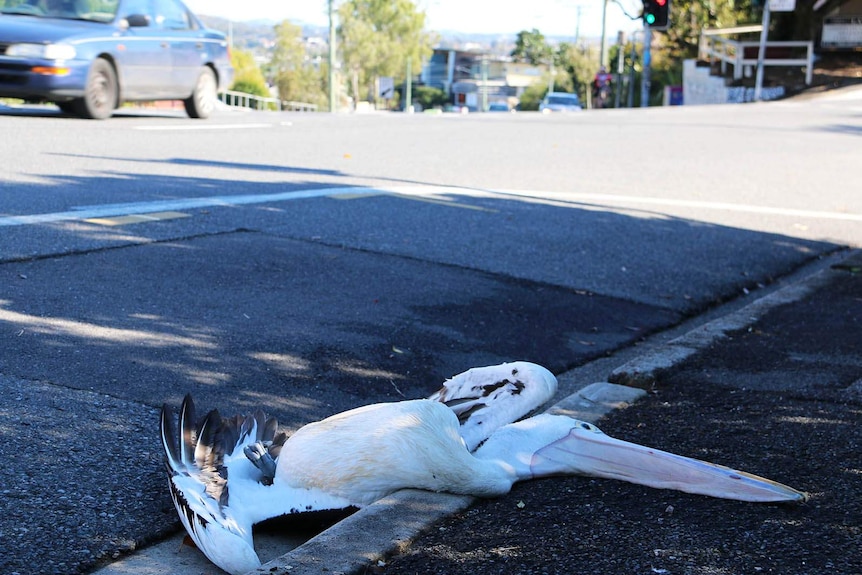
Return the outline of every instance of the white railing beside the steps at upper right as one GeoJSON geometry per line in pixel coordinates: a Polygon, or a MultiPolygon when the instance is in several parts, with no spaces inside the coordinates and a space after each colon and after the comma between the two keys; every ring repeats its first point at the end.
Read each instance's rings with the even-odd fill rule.
{"type": "MultiPolygon", "coordinates": [[[[760,32],[761,26],[739,26],[736,28],[721,28],[704,30],[700,36],[700,53],[698,58],[713,62],[721,62],[721,73],[725,74],[727,65],[733,66],[733,79],[742,79],[742,71],[745,66],[757,66],[757,51],[759,42],[738,42],[723,38],[728,34],[744,34],[748,32],[760,32]],[[752,53],[754,56],[752,57],[752,53]]],[[[814,42],[767,42],[766,56],[763,60],[764,66],[804,66],[805,83],[811,84],[814,71],[814,42]],[[798,49],[805,49],[804,58],[770,57],[770,52],[786,52],[788,56],[798,49]]]]}

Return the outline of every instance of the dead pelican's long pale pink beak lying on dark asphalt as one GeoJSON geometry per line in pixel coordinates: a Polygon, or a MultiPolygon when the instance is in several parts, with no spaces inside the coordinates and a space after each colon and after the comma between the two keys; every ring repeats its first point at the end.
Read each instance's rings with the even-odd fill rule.
{"type": "Polygon", "coordinates": [[[739,501],[808,499],[801,491],[757,475],[614,439],[592,424],[570,421],[576,425],[568,435],[533,453],[533,477],[573,473],[739,501]]]}

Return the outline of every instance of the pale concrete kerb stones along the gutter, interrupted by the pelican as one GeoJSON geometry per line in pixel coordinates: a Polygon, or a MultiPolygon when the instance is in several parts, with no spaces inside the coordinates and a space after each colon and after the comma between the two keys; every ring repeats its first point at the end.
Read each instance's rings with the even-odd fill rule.
{"type": "MultiPolygon", "coordinates": [[[[849,258],[858,259],[860,253],[853,251],[849,258]]],[[[728,337],[729,332],[745,329],[768,311],[807,297],[830,281],[832,273],[828,269],[820,270],[659,345],[614,369],[608,382],[587,385],[552,406],[548,412],[594,423],[610,411],[624,408],[646,395],[644,390],[649,389],[662,372],[728,337]]],[[[399,491],[361,509],[251,573],[360,573],[383,561],[386,556],[404,551],[434,522],[467,508],[473,501],[472,497],[445,493],[399,491]]]]}

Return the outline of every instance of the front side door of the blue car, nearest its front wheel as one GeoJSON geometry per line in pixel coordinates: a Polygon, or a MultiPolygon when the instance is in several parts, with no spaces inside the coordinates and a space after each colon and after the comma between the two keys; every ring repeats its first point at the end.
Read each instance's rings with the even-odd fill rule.
{"type": "Polygon", "coordinates": [[[125,0],[120,21],[128,26],[118,50],[120,85],[125,100],[155,100],[168,95],[171,84],[171,44],[157,25],[153,0],[125,0]]]}

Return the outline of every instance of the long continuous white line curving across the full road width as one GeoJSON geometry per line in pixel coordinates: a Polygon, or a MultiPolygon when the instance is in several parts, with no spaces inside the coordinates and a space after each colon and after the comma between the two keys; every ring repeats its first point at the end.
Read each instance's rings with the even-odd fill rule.
{"type": "MultiPolygon", "coordinates": [[[[150,214],[154,212],[181,212],[201,208],[218,206],[239,206],[248,204],[264,204],[272,202],[285,202],[290,200],[303,200],[309,198],[320,198],[326,196],[374,196],[380,194],[419,196],[429,198],[433,196],[468,196],[468,197],[523,197],[537,201],[546,202],[580,202],[596,207],[609,204],[620,207],[631,207],[636,205],[665,206],[675,208],[696,208],[702,210],[718,210],[726,212],[742,212],[753,214],[765,214],[770,216],[785,216],[793,218],[820,219],[820,220],[843,220],[862,222],[862,214],[851,212],[826,212],[818,210],[800,210],[793,208],[780,208],[770,206],[757,206],[751,204],[732,204],[727,202],[701,202],[694,200],[680,200],[674,198],[657,198],[642,196],[626,196],[615,194],[589,194],[570,192],[546,192],[536,190],[493,190],[478,188],[458,188],[450,186],[381,186],[381,187],[336,187],[336,188],[313,188],[304,190],[293,190],[277,194],[247,194],[233,196],[209,196],[202,198],[183,198],[177,200],[158,200],[152,202],[134,202],[128,204],[104,204],[95,206],[80,206],[65,212],[54,212],[47,214],[29,214],[20,216],[0,217],[2,226],[23,226],[34,224],[47,224],[72,220],[87,220],[93,218],[110,218],[127,216],[133,214],[150,214]]],[[[440,198],[443,200],[444,198],[440,198]]]]}

